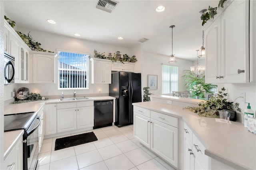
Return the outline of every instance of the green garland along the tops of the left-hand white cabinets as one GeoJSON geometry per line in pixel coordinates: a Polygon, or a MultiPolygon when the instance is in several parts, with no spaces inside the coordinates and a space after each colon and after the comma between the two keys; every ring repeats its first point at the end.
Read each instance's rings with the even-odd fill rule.
{"type": "MultiPolygon", "coordinates": [[[[12,28],[14,28],[15,26],[15,22],[10,20],[10,18],[7,18],[6,16],[4,16],[4,19],[10,24],[10,26],[12,28]]],[[[28,34],[23,34],[22,32],[16,31],[16,33],[20,36],[20,38],[28,45],[28,47],[30,47],[31,50],[33,51],[43,51],[43,52],[49,52],[49,53],[54,53],[53,51],[48,51],[46,49],[42,49],[40,47],[41,43],[36,42],[35,40],[33,40],[33,38],[29,35],[30,32],[28,32],[28,34]]]]}

